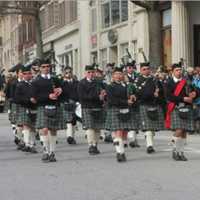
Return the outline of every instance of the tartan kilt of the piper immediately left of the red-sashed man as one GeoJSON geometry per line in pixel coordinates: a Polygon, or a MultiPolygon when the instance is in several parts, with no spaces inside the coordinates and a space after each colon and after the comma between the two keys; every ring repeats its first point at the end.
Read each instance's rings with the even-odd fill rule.
{"type": "Polygon", "coordinates": [[[140,105],[140,130],[142,131],[160,131],[164,130],[164,114],[162,108],[158,107],[158,120],[151,120],[147,115],[147,105],[140,105]]]}

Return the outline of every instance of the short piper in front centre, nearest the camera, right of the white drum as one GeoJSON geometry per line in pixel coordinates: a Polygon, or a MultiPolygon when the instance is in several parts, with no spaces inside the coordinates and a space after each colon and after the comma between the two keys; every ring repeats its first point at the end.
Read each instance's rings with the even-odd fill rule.
{"type": "Polygon", "coordinates": [[[136,101],[134,94],[128,94],[127,84],[124,82],[122,68],[115,68],[112,83],[107,87],[107,115],[105,128],[113,132],[113,144],[116,149],[118,162],[125,162],[124,141],[127,140],[129,130],[138,128],[138,121],[131,107],[136,101]]]}

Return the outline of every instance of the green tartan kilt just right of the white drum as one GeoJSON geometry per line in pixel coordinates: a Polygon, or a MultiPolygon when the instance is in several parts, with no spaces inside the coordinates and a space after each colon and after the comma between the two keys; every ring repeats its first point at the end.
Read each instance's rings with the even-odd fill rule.
{"type": "Polygon", "coordinates": [[[91,108],[82,108],[82,125],[83,129],[104,129],[105,126],[105,109],[102,108],[98,118],[95,118],[92,114],[91,108]]]}

